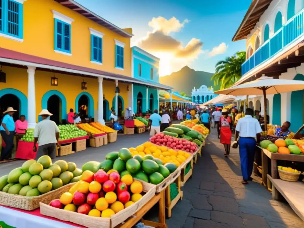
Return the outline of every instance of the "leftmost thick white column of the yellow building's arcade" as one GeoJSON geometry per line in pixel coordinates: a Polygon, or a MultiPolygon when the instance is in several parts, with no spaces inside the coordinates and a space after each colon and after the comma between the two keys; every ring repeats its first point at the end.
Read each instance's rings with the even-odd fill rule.
{"type": "Polygon", "coordinates": [[[34,129],[36,126],[36,94],[35,94],[35,70],[36,67],[28,66],[27,73],[27,121],[28,129],[34,129]]]}

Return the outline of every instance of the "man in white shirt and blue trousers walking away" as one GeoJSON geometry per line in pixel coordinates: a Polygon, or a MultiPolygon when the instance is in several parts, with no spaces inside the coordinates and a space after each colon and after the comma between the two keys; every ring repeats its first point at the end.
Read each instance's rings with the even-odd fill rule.
{"type": "Polygon", "coordinates": [[[248,181],[252,180],[250,176],[252,174],[253,169],[256,143],[260,143],[260,136],[262,132],[262,128],[259,121],[253,118],[252,116],[253,110],[246,109],[245,117],[239,119],[235,128],[236,140],[240,136],[240,160],[243,176],[242,184],[244,185],[247,185],[248,181]],[[255,138],[257,140],[255,140],[255,138]]]}

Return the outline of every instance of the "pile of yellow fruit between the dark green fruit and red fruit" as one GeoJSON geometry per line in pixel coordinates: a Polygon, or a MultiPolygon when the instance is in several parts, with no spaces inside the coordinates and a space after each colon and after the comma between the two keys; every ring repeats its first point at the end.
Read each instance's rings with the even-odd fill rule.
{"type": "Polygon", "coordinates": [[[180,166],[184,163],[191,154],[182,150],[175,151],[168,149],[167,147],[157,146],[151,142],[145,142],[136,148],[129,148],[132,156],[139,154],[141,157],[150,154],[155,158],[159,158],[164,164],[173,163],[176,166],[180,166]]]}

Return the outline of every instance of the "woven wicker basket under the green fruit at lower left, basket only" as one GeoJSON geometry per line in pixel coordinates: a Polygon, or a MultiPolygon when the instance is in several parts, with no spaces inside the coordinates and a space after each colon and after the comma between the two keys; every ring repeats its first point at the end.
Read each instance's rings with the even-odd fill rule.
{"type": "Polygon", "coordinates": [[[60,196],[64,192],[68,192],[74,184],[75,183],[64,185],[39,196],[22,196],[0,192],[0,205],[32,211],[39,208],[39,202],[49,204],[53,199],[59,199],[60,196]]]}

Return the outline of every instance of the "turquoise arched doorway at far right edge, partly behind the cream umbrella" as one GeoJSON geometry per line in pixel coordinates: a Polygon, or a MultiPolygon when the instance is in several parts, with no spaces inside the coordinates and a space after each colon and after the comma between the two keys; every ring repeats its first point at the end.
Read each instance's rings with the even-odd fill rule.
{"type": "MultiPolygon", "coordinates": [[[[304,81],[304,75],[297,74],[293,80],[304,81]]],[[[300,90],[291,93],[290,107],[292,108],[292,111],[290,112],[290,129],[293,132],[299,130],[303,125],[303,92],[304,90],[300,90]]]]}

